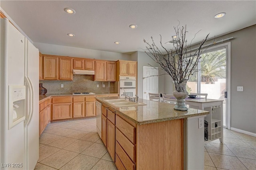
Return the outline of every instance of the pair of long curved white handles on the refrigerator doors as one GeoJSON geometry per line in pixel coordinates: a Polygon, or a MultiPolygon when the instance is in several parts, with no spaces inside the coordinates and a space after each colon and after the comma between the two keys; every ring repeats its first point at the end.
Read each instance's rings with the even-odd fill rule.
{"type": "Polygon", "coordinates": [[[29,104],[30,109],[29,109],[28,116],[26,117],[26,120],[24,123],[24,126],[27,126],[28,123],[30,122],[30,119],[33,114],[33,109],[34,109],[34,89],[33,89],[30,78],[25,76],[24,80],[25,80],[26,84],[28,84],[28,90],[29,90],[29,94],[30,94],[30,99],[29,99],[30,100],[30,104],[29,104]]]}

